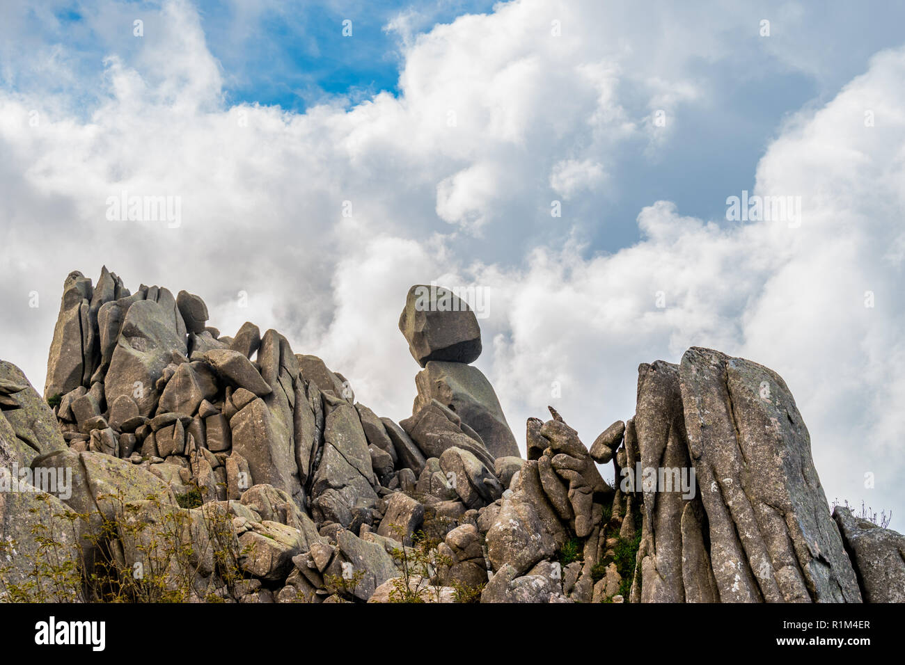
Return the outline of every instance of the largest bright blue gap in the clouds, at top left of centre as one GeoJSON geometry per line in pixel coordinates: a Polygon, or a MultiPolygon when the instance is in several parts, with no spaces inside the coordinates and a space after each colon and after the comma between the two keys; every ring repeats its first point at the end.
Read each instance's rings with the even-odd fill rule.
{"type": "MultiPolygon", "coordinates": [[[[325,96],[350,102],[376,92],[398,92],[399,35],[386,30],[396,14],[414,11],[418,25],[447,23],[484,12],[491,2],[286,3],[255,16],[254,36],[236,48],[241,14],[231,2],[202,2],[199,10],[211,51],[224,65],[227,99],[302,111],[325,96]],[[357,5],[357,6],[356,6],[357,5]],[[352,22],[351,38],[343,22],[352,22]],[[252,42],[253,40],[253,42],[252,42]]],[[[247,26],[246,26],[247,27],[247,26]]]]}

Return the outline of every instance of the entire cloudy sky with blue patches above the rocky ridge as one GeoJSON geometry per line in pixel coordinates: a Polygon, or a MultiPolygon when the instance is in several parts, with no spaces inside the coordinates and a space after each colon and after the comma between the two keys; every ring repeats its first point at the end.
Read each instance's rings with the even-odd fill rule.
{"type": "Polygon", "coordinates": [[[640,363],[714,347],[784,377],[830,501],[902,530],[902,24],[832,0],[7,0],[0,356],[43,386],[63,280],[107,265],[225,335],[276,328],[398,421],[397,320],[437,281],[480,290],[476,365],[523,449],[547,404],[590,444],[640,363]],[[174,215],[111,219],[124,193],[174,215]],[[791,205],[732,218],[743,193],[791,205]]]}

